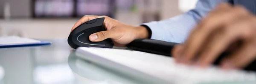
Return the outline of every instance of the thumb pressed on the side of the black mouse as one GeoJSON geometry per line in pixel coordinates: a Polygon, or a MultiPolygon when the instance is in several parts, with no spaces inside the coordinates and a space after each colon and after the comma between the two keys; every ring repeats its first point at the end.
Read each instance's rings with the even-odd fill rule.
{"type": "Polygon", "coordinates": [[[112,32],[111,30],[100,31],[98,33],[91,34],[89,36],[89,39],[90,39],[90,41],[93,41],[93,42],[103,41],[107,38],[112,38],[112,33],[111,32],[112,32]]]}

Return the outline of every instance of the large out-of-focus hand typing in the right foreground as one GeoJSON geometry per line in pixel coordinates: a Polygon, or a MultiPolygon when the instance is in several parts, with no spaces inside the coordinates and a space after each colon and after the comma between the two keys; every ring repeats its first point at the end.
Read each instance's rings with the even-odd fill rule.
{"type": "Polygon", "coordinates": [[[221,61],[222,68],[244,68],[256,59],[256,17],[241,6],[221,3],[172,55],[178,63],[205,68],[227,49],[232,54],[221,61]]]}

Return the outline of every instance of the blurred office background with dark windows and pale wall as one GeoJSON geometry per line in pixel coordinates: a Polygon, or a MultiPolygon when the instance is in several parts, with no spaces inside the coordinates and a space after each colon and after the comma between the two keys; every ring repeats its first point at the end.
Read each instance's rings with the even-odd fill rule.
{"type": "Polygon", "coordinates": [[[84,15],[106,15],[131,25],[168,19],[198,0],[0,0],[0,36],[67,38],[84,15]]]}

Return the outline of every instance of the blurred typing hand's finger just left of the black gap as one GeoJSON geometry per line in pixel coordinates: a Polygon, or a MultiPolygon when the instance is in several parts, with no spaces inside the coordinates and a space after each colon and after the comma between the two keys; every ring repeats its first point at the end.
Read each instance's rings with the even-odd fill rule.
{"type": "Polygon", "coordinates": [[[205,68],[210,65],[216,58],[225,51],[230,43],[238,39],[247,39],[252,36],[251,21],[244,17],[244,20],[223,28],[222,32],[215,33],[213,38],[206,43],[197,60],[197,65],[205,68]]]}

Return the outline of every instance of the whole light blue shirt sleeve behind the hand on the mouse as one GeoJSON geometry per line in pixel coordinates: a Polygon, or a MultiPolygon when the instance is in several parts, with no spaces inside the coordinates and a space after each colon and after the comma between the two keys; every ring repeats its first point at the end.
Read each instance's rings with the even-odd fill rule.
{"type": "Polygon", "coordinates": [[[151,31],[151,39],[183,43],[192,28],[215,8],[218,3],[227,0],[199,0],[195,9],[179,16],[162,21],[144,23],[151,31]]]}

